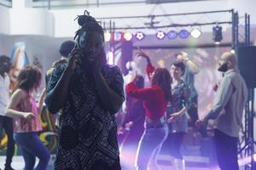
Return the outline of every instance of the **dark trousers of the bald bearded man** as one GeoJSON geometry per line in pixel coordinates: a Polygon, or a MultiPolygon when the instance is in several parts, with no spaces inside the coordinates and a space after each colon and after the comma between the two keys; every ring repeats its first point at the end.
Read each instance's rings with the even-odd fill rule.
{"type": "Polygon", "coordinates": [[[214,142],[218,166],[221,170],[239,170],[237,162],[237,138],[215,129],[214,142]]]}

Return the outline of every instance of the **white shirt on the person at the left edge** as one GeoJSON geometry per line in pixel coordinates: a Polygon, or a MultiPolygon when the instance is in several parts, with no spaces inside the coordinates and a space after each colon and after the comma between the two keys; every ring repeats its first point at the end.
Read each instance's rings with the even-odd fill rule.
{"type": "Polygon", "coordinates": [[[0,116],[4,115],[4,110],[9,104],[9,77],[4,73],[4,77],[0,76],[0,116]]]}

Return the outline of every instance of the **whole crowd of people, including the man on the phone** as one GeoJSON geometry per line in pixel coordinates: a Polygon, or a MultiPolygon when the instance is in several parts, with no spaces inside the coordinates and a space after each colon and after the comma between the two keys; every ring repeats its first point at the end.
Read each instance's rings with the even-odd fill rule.
{"type": "Polygon", "coordinates": [[[87,11],[78,16],[78,23],[75,41],[61,44],[61,59],[47,71],[45,88],[37,100],[33,94],[41,85],[42,71],[27,65],[10,90],[11,60],[0,56],[0,127],[8,137],[5,170],[13,169],[15,144],[25,170],[47,169],[49,150],[38,138],[44,103],[59,129],[56,170],[120,170],[119,137],[125,131],[137,143],[133,169],[160,170],[157,156],[165,144],[173,169],[183,170],[181,147],[188,127],[207,139],[209,119],[217,122],[214,144],[219,167],[239,169],[237,141],[247,87],[237,69],[236,54],[226,52],[220,57],[218,71],[224,73],[223,80],[214,87],[217,94],[212,109],[199,117],[194,83],[200,69],[189,54],[176,54],[167,68],[156,68],[150,56],[139,50],[137,57],[147,61],[147,77],[133,72],[129,82],[124,82],[119,67],[107,64],[102,26],[87,11]],[[148,88],[145,78],[150,81],[148,88]],[[123,102],[125,119],[117,123],[123,102]]]}

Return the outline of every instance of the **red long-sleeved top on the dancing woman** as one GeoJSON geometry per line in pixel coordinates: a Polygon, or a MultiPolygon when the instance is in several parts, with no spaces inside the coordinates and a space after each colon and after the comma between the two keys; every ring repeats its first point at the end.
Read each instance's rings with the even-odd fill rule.
{"type": "Polygon", "coordinates": [[[162,88],[154,85],[151,88],[137,88],[134,82],[130,82],[125,91],[131,97],[143,99],[143,106],[149,119],[159,120],[165,116],[167,100],[162,88]]]}

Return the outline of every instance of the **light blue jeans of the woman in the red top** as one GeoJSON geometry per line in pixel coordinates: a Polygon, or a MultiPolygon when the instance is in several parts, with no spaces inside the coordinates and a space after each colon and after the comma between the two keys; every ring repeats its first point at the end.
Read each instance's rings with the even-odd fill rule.
{"type": "Polygon", "coordinates": [[[166,140],[168,134],[168,127],[152,127],[145,128],[142,138],[140,139],[137,149],[136,169],[147,170],[150,162],[150,167],[153,170],[158,170],[157,156],[163,142],[166,140]]]}

